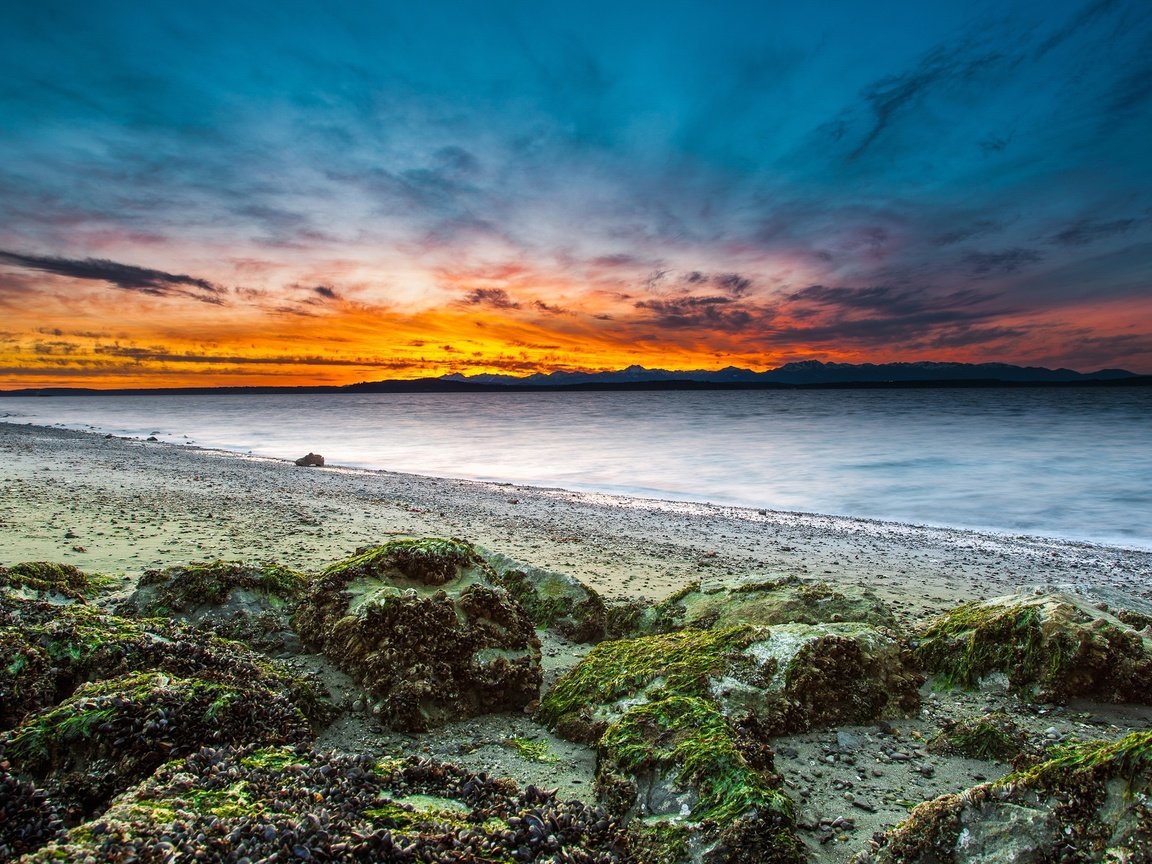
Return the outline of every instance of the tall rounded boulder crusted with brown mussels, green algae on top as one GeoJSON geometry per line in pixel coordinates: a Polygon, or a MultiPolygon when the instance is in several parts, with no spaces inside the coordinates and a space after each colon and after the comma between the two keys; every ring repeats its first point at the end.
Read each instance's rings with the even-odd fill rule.
{"type": "Polygon", "coordinates": [[[461,540],[393,540],[333,564],[294,623],[396,729],[520,710],[539,694],[531,619],[461,540]]]}

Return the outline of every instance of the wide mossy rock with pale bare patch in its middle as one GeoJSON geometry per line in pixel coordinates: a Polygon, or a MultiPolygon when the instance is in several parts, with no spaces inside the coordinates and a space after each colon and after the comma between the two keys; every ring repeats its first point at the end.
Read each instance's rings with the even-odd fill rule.
{"type": "Polygon", "coordinates": [[[594,743],[630,705],[670,694],[786,734],[907,715],[922,681],[900,643],[866,624],[687,629],[597,645],[556,681],[539,717],[594,743]]]}

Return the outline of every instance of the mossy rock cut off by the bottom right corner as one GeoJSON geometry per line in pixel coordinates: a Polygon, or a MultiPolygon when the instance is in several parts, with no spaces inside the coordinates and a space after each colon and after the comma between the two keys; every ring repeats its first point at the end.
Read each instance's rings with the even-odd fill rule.
{"type": "Polygon", "coordinates": [[[920,804],[858,864],[1147,862],[1152,732],[1062,748],[995,782],[920,804]]]}

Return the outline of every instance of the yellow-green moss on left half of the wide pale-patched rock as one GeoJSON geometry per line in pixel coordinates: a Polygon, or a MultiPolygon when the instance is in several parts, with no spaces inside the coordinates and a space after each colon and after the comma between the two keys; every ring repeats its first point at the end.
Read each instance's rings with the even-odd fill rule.
{"type": "Polygon", "coordinates": [[[758,632],[732,627],[601,643],[555,683],[538,715],[555,727],[597,705],[635,698],[652,684],[667,694],[704,696],[708,677],[730,665],[758,632]]]}

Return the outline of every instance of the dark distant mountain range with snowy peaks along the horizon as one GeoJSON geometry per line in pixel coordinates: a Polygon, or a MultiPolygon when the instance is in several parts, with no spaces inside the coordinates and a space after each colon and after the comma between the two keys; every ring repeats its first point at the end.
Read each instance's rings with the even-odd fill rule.
{"type": "Polygon", "coordinates": [[[597,389],[793,389],[880,387],[1061,387],[1150,386],[1152,376],[1123,369],[1076,372],[1071,369],[1014,366],[1007,363],[788,363],[766,372],[727,366],[720,370],[670,371],[628,366],[617,372],[550,372],[517,378],[501,374],[447,374],[415,380],[384,380],[343,387],[168,387],[93,389],[37,387],[0,391],[0,396],[79,394],[194,393],[476,393],[506,391],[597,389]]]}

